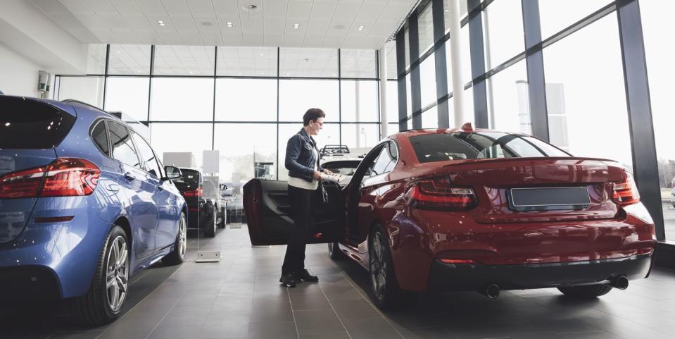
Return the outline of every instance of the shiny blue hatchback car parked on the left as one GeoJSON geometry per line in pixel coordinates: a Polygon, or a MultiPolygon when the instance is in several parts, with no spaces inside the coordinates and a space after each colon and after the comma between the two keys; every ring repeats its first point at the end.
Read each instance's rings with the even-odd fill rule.
{"type": "Polygon", "coordinates": [[[130,276],[184,260],[179,177],[105,111],[0,95],[0,301],[68,299],[84,324],[113,321],[130,276]]]}

